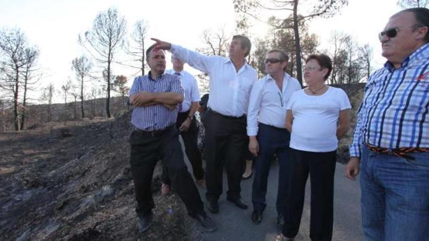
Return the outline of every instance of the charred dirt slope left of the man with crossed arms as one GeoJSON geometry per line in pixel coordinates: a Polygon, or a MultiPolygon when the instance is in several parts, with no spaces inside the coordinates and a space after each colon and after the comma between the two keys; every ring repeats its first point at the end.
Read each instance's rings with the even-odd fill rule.
{"type": "Polygon", "coordinates": [[[0,240],[191,239],[183,204],[160,195],[159,165],[154,223],[138,234],[129,121],[130,112],[0,133],[0,240]]]}

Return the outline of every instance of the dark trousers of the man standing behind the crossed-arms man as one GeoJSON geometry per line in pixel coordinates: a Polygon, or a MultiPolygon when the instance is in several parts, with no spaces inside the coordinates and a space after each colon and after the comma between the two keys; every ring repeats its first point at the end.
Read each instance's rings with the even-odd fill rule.
{"type": "MultiPolygon", "coordinates": [[[[177,129],[188,118],[188,115],[189,111],[178,113],[176,121],[177,129]]],[[[201,152],[197,146],[198,127],[196,126],[195,118],[192,119],[189,129],[187,131],[180,132],[180,135],[182,136],[183,144],[185,144],[185,153],[191,163],[195,180],[204,179],[201,152]]],[[[161,181],[165,184],[171,185],[171,181],[168,178],[167,169],[165,167],[162,169],[161,181]]]]}

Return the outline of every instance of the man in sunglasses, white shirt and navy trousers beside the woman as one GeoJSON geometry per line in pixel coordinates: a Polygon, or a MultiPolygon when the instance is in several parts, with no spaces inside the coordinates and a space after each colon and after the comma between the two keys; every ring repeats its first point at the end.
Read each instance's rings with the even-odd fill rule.
{"type": "Polygon", "coordinates": [[[279,163],[277,224],[284,224],[288,172],[292,169],[288,160],[291,133],[285,128],[286,106],[292,93],[301,90],[298,80],[284,72],[287,64],[288,56],[283,51],[268,51],[265,58],[267,75],[254,84],[250,94],[247,135],[249,150],[257,156],[252,187],[252,221],[255,224],[261,222],[266,207],[268,174],[274,154],[279,163]]]}

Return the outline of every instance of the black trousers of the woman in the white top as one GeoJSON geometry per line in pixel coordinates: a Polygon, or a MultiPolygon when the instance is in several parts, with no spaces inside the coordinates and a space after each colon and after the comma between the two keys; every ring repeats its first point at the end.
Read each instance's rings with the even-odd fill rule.
{"type": "Polygon", "coordinates": [[[310,173],[310,238],[313,241],[332,240],[335,156],[336,150],[310,152],[291,148],[293,169],[290,198],[282,231],[286,237],[293,238],[298,233],[304,207],[305,184],[310,173]]]}

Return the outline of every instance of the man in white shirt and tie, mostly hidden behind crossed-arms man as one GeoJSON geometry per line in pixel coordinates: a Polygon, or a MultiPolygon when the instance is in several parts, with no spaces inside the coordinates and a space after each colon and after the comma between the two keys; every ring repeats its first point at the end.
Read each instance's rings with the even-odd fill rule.
{"type": "MultiPolygon", "coordinates": [[[[182,103],[178,104],[179,113],[177,114],[176,127],[180,130],[183,143],[185,145],[185,153],[191,163],[196,183],[206,187],[204,179],[204,170],[202,167],[201,152],[197,147],[198,127],[194,118],[195,111],[198,107],[200,95],[198,91],[198,84],[192,74],[183,70],[184,63],[180,59],[172,56],[173,69],[167,70],[167,74],[174,74],[179,77],[182,87],[185,90],[185,97],[182,103]]],[[[163,194],[170,192],[170,179],[168,178],[166,168],[163,168],[161,177],[163,194]]]]}

